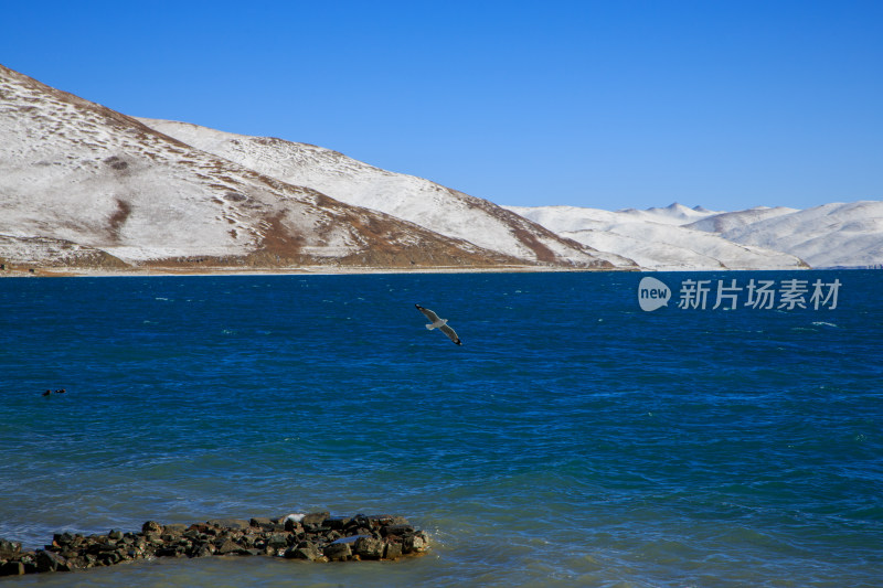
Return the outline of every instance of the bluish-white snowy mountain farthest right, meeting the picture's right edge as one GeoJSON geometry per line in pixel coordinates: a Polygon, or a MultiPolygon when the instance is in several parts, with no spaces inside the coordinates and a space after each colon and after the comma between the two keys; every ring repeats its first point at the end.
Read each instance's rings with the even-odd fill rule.
{"type": "Polygon", "coordinates": [[[883,264],[883,202],[831,203],[798,211],[751,209],[687,225],[734,243],[789,253],[812,267],[883,264]]]}

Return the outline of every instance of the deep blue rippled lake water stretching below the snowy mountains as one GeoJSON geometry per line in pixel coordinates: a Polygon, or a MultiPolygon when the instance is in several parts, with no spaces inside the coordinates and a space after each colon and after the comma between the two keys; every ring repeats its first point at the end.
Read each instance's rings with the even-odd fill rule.
{"type": "Polygon", "coordinates": [[[2,581],[881,586],[883,272],[653,276],[652,312],[640,274],[2,279],[0,537],[327,510],[433,539],[2,581]],[[679,309],[691,278],[842,285],[679,309]]]}

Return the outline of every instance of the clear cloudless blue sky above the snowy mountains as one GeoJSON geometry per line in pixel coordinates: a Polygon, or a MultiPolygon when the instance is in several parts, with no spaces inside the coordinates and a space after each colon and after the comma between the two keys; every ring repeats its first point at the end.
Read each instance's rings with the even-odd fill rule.
{"type": "Polygon", "coordinates": [[[3,2],[0,63],[499,204],[883,200],[883,1],[3,2]]]}

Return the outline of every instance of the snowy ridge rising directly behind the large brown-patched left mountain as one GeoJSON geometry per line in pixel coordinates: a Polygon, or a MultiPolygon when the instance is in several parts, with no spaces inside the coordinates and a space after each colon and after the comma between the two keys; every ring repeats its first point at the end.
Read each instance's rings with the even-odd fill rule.
{"type": "Polygon", "coordinates": [[[634,267],[629,259],[563,239],[487,200],[422,178],[382,170],[330,149],[234,135],[187,122],[139,120],[187,145],[264,175],[310,186],[340,202],[380,211],[530,263],[592,267],[602,265],[600,258],[616,266],[634,267]]]}

